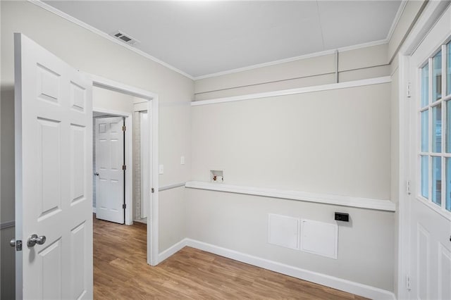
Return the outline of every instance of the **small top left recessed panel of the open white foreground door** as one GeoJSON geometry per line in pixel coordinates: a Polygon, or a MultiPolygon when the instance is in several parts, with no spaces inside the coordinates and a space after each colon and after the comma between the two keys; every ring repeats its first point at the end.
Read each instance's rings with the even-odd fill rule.
{"type": "Polygon", "coordinates": [[[37,65],[37,97],[41,100],[59,102],[60,75],[43,65],[37,65]]]}

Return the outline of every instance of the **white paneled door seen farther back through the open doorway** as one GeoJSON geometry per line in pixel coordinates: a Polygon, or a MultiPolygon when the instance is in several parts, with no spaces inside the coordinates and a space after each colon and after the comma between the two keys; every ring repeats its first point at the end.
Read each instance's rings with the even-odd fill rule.
{"type": "Polygon", "coordinates": [[[124,223],[124,120],[96,118],[96,218],[124,223]]]}

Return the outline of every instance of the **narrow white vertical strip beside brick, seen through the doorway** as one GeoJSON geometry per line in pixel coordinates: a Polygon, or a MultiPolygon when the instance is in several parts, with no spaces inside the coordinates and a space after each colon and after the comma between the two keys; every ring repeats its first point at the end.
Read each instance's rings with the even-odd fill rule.
{"type": "Polygon", "coordinates": [[[141,139],[141,218],[147,218],[147,204],[149,204],[149,114],[140,111],[140,139],[141,139]]]}

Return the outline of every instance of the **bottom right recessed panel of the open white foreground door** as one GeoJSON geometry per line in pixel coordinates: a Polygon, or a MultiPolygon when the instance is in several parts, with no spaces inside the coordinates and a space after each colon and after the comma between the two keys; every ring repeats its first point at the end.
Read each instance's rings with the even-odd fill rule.
{"type": "Polygon", "coordinates": [[[85,222],[71,230],[70,235],[70,266],[72,299],[79,299],[86,292],[85,253],[86,226],[85,222]]]}

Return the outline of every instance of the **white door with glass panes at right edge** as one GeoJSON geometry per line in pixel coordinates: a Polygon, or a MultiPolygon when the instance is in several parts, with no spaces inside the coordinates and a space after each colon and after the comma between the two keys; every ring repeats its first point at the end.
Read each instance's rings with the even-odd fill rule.
{"type": "Polygon", "coordinates": [[[410,58],[410,299],[451,299],[451,11],[410,58]]]}

